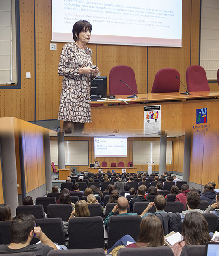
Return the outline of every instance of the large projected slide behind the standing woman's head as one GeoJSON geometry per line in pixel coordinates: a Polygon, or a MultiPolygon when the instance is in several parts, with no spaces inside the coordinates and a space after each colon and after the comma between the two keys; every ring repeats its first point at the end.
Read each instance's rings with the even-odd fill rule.
{"type": "Polygon", "coordinates": [[[78,20],[92,24],[90,43],[182,46],[182,0],[52,0],[52,41],[73,42],[78,20]]]}

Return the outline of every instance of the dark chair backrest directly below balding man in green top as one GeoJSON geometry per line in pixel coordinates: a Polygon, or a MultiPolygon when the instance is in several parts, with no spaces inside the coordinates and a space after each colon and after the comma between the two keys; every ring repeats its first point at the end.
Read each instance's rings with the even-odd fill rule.
{"type": "Polygon", "coordinates": [[[110,216],[108,227],[108,247],[111,248],[118,239],[129,234],[136,241],[140,233],[142,217],[139,215],[110,216]]]}

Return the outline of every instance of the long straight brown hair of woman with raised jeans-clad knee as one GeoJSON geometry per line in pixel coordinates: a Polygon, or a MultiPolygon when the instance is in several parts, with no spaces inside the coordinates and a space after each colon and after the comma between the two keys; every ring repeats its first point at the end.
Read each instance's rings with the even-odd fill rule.
{"type": "Polygon", "coordinates": [[[164,232],[160,219],[151,214],[142,219],[137,247],[156,247],[164,245],[164,232]],[[151,230],[151,231],[149,231],[151,230]],[[146,245],[142,245],[145,243],[146,245]]]}

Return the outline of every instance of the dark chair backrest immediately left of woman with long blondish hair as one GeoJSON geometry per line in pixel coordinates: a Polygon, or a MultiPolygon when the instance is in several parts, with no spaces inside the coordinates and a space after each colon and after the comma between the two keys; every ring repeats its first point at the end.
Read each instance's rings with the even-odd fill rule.
{"type": "Polygon", "coordinates": [[[47,218],[62,218],[63,221],[68,221],[72,211],[71,204],[49,204],[47,218]]]}

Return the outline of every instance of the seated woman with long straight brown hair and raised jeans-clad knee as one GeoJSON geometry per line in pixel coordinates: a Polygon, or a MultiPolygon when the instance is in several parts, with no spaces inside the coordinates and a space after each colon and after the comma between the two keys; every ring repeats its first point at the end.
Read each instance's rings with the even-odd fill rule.
{"type": "Polygon", "coordinates": [[[129,236],[125,235],[119,239],[110,249],[107,254],[115,255],[114,252],[118,246],[127,248],[142,248],[142,247],[157,247],[164,245],[163,226],[160,219],[155,215],[145,217],[140,225],[140,234],[137,242],[129,236]],[[127,242],[132,242],[127,245],[127,242]]]}

